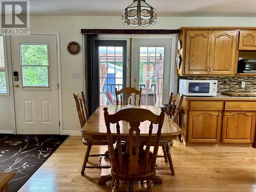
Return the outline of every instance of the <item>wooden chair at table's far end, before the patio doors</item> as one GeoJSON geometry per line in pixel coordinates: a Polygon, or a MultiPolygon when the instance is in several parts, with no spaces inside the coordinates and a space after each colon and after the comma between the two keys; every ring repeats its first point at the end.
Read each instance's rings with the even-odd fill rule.
{"type": "Polygon", "coordinates": [[[136,90],[135,88],[122,88],[120,91],[117,91],[117,88],[115,88],[115,93],[116,93],[116,104],[117,105],[119,103],[121,103],[121,105],[123,104],[123,101],[122,101],[122,94],[123,93],[126,94],[126,99],[125,99],[126,104],[132,104],[132,103],[128,103],[128,98],[132,95],[132,93],[134,93],[135,94],[134,105],[136,105],[137,95],[139,96],[138,105],[140,105],[140,102],[141,102],[141,88],[140,88],[140,90],[136,90]],[[118,95],[120,95],[120,102],[118,101],[118,95]]]}

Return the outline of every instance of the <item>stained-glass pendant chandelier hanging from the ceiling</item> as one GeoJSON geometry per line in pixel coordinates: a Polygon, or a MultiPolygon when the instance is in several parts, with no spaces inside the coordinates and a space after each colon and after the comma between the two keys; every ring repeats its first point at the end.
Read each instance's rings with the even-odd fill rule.
{"type": "Polygon", "coordinates": [[[134,0],[122,13],[123,24],[132,27],[146,27],[154,25],[156,21],[157,11],[148,5],[145,0],[134,0]]]}

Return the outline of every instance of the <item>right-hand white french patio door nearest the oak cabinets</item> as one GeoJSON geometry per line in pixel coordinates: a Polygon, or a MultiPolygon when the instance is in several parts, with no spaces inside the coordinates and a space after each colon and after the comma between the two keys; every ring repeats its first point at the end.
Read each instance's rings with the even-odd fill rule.
{"type": "Polygon", "coordinates": [[[168,103],[171,54],[170,38],[133,38],[131,86],[142,88],[142,105],[168,103]]]}

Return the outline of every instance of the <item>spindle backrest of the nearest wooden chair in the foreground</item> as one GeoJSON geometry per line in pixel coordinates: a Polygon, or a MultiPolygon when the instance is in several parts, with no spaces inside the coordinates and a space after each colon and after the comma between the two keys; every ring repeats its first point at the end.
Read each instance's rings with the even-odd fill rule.
{"type": "Polygon", "coordinates": [[[109,152],[112,162],[112,168],[115,173],[125,174],[127,176],[138,176],[150,172],[154,172],[155,163],[157,158],[157,152],[159,147],[159,141],[161,137],[161,129],[164,121],[165,110],[162,109],[160,115],[155,115],[149,110],[146,109],[123,109],[118,111],[115,114],[109,115],[108,108],[104,108],[104,118],[108,136],[109,152]],[[140,123],[143,121],[150,121],[150,127],[148,131],[148,139],[146,144],[145,153],[145,162],[148,162],[150,158],[150,146],[151,146],[151,137],[153,132],[153,123],[158,124],[158,129],[156,133],[156,140],[154,145],[154,151],[152,155],[151,165],[145,166],[144,170],[139,170],[139,154],[141,153],[141,140],[140,140],[140,123]],[[127,142],[127,157],[129,157],[129,167],[128,170],[125,169],[122,165],[122,149],[121,149],[121,139],[120,139],[120,125],[119,121],[126,121],[130,124],[129,130],[129,142],[127,142]],[[112,139],[112,133],[110,129],[110,123],[116,124],[116,133],[117,133],[117,148],[118,148],[118,158],[119,162],[115,159],[114,145],[112,139]]]}

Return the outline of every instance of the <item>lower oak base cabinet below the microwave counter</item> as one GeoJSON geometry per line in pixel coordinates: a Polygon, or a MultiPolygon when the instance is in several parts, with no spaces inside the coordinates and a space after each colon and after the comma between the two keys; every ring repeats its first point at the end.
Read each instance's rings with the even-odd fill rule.
{"type": "Polygon", "coordinates": [[[181,112],[186,143],[253,143],[256,98],[184,97],[181,112]]]}

